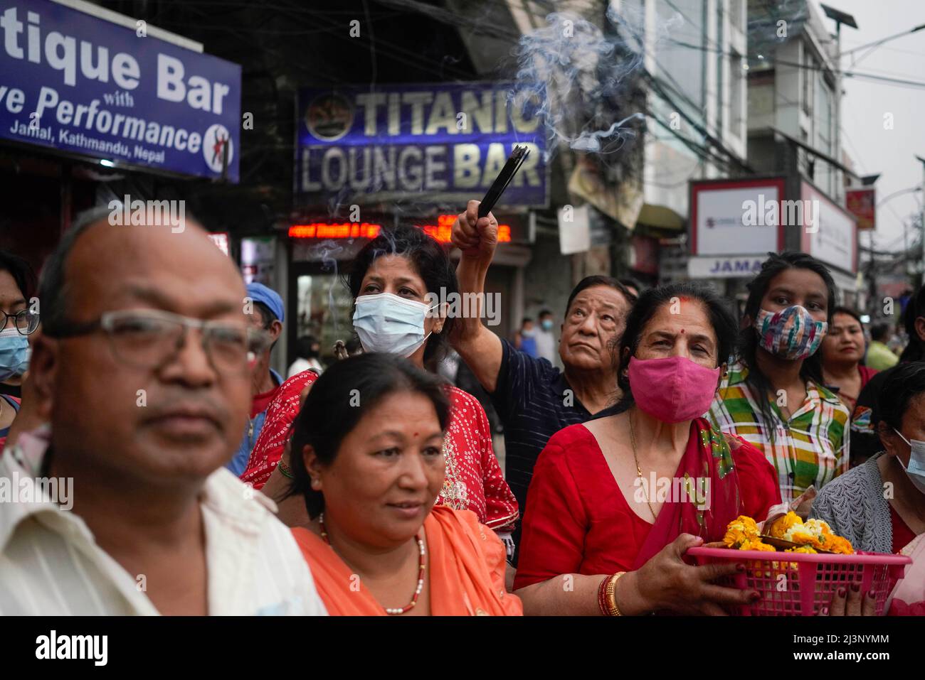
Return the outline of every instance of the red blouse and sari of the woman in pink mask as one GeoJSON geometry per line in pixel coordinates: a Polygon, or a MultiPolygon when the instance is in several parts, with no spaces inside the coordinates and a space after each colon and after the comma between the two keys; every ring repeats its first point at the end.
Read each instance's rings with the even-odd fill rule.
{"type": "Polygon", "coordinates": [[[584,425],[558,431],[527,492],[514,589],[562,574],[632,571],[681,533],[722,540],[736,516],[764,519],[781,502],[777,474],[758,449],[740,442],[731,450],[706,419],[691,422],[675,477],[709,479],[709,509],[669,498],[650,524],[627,503],[594,435],[584,425]]]}

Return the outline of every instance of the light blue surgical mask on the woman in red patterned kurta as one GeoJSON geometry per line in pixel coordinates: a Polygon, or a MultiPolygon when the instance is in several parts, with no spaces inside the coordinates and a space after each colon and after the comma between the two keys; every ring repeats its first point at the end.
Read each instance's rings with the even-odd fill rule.
{"type": "Polygon", "coordinates": [[[424,332],[424,320],[432,309],[391,293],[362,295],[356,298],[353,328],[360,336],[364,352],[386,352],[407,358],[430,335],[424,332]]]}

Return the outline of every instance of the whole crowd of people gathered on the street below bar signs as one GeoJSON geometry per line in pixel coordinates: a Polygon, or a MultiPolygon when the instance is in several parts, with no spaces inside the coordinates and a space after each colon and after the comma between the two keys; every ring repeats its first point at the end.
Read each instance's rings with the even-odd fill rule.
{"type": "Polygon", "coordinates": [[[925,287],[902,357],[800,252],[741,319],[703,285],[588,276],[558,334],[543,310],[509,342],[431,303],[485,292],[477,210],[455,265],[413,226],[366,243],[353,348],[325,367],[300,338],[286,378],[283,300],[198,225],[90,212],[38,282],[0,253],[0,478],[31,491],[0,503],[0,613],[719,615],[760,594],[687,550],[815,490],[857,550],[912,558],[887,611],[925,614],[925,287]]]}

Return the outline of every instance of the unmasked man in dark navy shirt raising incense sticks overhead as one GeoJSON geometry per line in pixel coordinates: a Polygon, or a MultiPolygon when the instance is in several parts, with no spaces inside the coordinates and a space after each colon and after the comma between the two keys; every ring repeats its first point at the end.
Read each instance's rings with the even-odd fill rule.
{"type": "MultiPolygon", "coordinates": [[[[478,203],[469,201],[452,230],[453,245],[462,250],[456,269],[461,293],[485,291],[498,246],[498,222],[491,213],[479,219],[478,203]]],[[[453,347],[491,395],[504,424],[505,477],[522,508],[549,437],[615,406],[619,395],[611,352],[634,301],[623,284],[607,276],[588,276],[576,285],[561,324],[564,371],[514,349],[475,315],[462,319],[453,347]]]]}

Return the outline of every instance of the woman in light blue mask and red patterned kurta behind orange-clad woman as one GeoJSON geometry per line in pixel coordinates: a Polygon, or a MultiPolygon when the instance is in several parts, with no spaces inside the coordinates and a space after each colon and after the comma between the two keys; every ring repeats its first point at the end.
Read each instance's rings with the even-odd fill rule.
{"type": "MultiPolygon", "coordinates": [[[[438,358],[453,326],[438,302],[458,291],[450,258],[433,238],[413,226],[400,226],[367,243],[351,266],[348,285],[356,302],[354,329],[365,352],[408,358],[418,368],[438,358]]],[[[288,487],[282,459],[290,426],[299,412],[299,396],[314,381],[299,373],[280,388],[267,409],[266,422],[241,480],[275,500],[288,487]]],[[[517,501],[504,480],[491,442],[485,409],[473,395],[446,386],[450,425],[444,443],[446,477],[438,503],[472,510],[498,532],[510,548],[519,516],[517,501]]],[[[300,504],[279,504],[279,516],[291,526],[305,520],[300,504]]]]}

